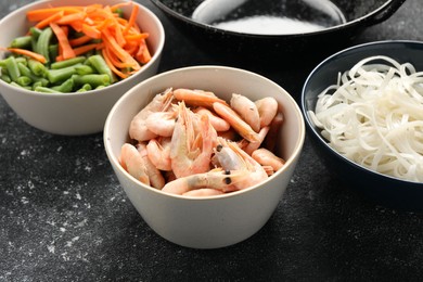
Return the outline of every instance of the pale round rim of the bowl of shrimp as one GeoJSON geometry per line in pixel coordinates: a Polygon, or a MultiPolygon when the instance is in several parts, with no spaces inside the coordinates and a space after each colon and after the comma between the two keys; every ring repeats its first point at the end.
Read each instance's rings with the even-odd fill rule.
{"type": "Polygon", "coordinates": [[[302,152],[302,149],[303,149],[303,145],[304,145],[304,142],[305,142],[305,136],[306,136],[305,121],[304,121],[304,117],[303,117],[302,111],[299,108],[299,105],[296,103],[294,98],[289,92],[286,92],[281,86],[279,86],[274,81],[270,80],[269,78],[267,78],[265,76],[261,76],[261,75],[258,75],[256,73],[253,73],[253,72],[249,72],[249,70],[245,70],[245,69],[242,69],[242,68],[238,68],[238,67],[221,66],[221,65],[196,65],[196,66],[180,67],[180,68],[170,69],[170,70],[157,74],[157,75],[155,75],[153,77],[150,77],[150,78],[143,80],[142,82],[138,84],[137,86],[134,86],[133,88],[128,90],[114,104],[114,106],[112,107],[111,112],[108,113],[108,116],[107,116],[106,121],[104,124],[104,130],[103,130],[104,149],[106,151],[108,159],[111,162],[113,162],[115,167],[117,167],[131,182],[133,182],[133,183],[136,183],[136,184],[138,184],[138,185],[140,185],[140,187],[142,187],[144,189],[148,189],[149,191],[151,191],[153,193],[157,193],[157,194],[161,194],[163,196],[170,196],[170,197],[175,197],[175,198],[179,198],[179,200],[185,200],[185,201],[222,200],[222,198],[238,196],[238,195],[241,195],[243,193],[247,193],[251,190],[258,189],[262,183],[271,181],[272,178],[277,177],[278,175],[281,175],[282,172],[284,172],[287,169],[289,166],[293,165],[294,159],[296,157],[299,157],[299,155],[300,155],[300,152],[302,152]],[[290,157],[287,159],[285,159],[285,164],[284,164],[284,166],[280,170],[274,172],[272,176],[268,177],[268,179],[266,179],[265,181],[262,181],[260,183],[257,183],[255,185],[248,187],[246,189],[240,190],[240,191],[235,191],[235,192],[231,192],[231,193],[225,193],[222,195],[191,197],[191,196],[183,196],[183,195],[176,195],[176,194],[166,193],[166,192],[163,192],[163,191],[157,190],[155,188],[152,188],[150,185],[146,185],[146,184],[138,181],[137,179],[134,179],[132,176],[130,176],[128,174],[128,171],[126,171],[120,166],[117,157],[113,154],[113,152],[111,150],[110,142],[107,141],[107,137],[110,136],[108,131],[110,131],[110,124],[111,124],[111,120],[112,120],[112,116],[120,107],[120,103],[128,95],[130,95],[132,92],[137,91],[139,88],[142,88],[145,84],[149,84],[151,80],[156,80],[156,79],[159,79],[161,77],[168,76],[168,75],[171,75],[174,73],[180,73],[180,72],[184,72],[184,70],[195,70],[195,69],[225,69],[225,70],[229,70],[229,72],[239,72],[239,73],[244,73],[244,74],[247,74],[247,75],[253,75],[253,76],[259,77],[260,79],[264,79],[264,81],[266,84],[271,84],[271,85],[275,86],[277,88],[283,90],[282,92],[286,93],[286,99],[290,101],[290,103],[292,103],[292,106],[295,108],[295,114],[297,115],[297,119],[299,120],[299,124],[298,124],[298,139],[296,141],[294,151],[291,153],[290,157]]]}

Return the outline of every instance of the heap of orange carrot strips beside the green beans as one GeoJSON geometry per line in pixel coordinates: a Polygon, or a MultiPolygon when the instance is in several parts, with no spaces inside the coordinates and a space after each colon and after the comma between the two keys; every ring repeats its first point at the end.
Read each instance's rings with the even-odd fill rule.
{"type": "MultiPolygon", "coordinates": [[[[148,33],[137,25],[139,5],[123,1],[114,5],[89,4],[46,8],[27,12],[29,21],[38,26],[51,26],[59,41],[57,61],[84,54],[90,50],[101,50],[107,65],[120,78],[139,70],[151,60],[145,42],[148,33]],[[117,9],[131,5],[129,18],[119,17],[117,9]],[[66,28],[82,33],[84,36],[70,39],[66,28]],[[101,43],[89,43],[101,39],[101,43]]],[[[69,33],[70,34],[70,33],[69,33]]]]}

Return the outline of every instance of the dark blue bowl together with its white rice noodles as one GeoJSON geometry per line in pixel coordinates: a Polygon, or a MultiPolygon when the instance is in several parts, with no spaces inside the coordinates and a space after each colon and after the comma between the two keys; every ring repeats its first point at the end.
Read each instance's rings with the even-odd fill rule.
{"type": "Polygon", "coordinates": [[[308,76],[302,107],[316,151],[376,204],[423,210],[423,42],[355,46],[308,76]]]}

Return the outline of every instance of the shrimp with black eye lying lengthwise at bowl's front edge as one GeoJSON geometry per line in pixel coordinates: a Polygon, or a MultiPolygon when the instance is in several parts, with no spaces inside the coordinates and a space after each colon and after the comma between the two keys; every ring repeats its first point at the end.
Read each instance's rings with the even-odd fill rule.
{"type": "Polygon", "coordinates": [[[203,174],[195,174],[178,178],[166,183],[162,191],[182,195],[196,189],[209,188],[217,189],[223,193],[236,191],[236,183],[248,178],[247,170],[221,170],[214,169],[203,174]]]}

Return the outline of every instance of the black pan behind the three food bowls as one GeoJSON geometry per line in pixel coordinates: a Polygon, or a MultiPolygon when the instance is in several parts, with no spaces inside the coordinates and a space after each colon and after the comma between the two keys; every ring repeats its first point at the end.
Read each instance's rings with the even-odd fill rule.
{"type": "MultiPolygon", "coordinates": [[[[312,55],[320,50],[321,55],[328,55],[335,50],[348,44],[348,40],[354,38],[364,28],[382,23],[390,17],[406,0],[206,0],[219,1],[219,3],[230,3],[231,1],[243,2],[240,8],[234,9],[222,20],[229,21],[236,13],[268,13],[272,16],[297,17],[295,21],[317,21],[323,24],[318,30],[303,30],[295,27],[289,31],[277,31],[275,34],[257,34],[244,30],[228,30],[227,28],[215,26],[214,23],[203,23],[193,20],[198,12],[198,5],[204,0],[151,0],[164,14],[187,34],[193,41],[206,50],[210,55],[218,57],[238,57],[242,60],[274,60],[293,59],[300,54],[300,57],[312,55]],[[330,2],[341,14],[339,18],[324,17],[331,13],[316,13],[310,7],[319,1],[330,2]],[[197,10],[196,10],[197,9],[197,10]],[[266,10],[266,11],[265,11],[266,10]],[[195,12],[194,12],[195,11],[195,12]],[[269,12],[270,11],[270,12],[269,12]],[[311,18],[316,16],[317,18],[311,18]],[[320,18],[320,20],[319,20],[320,18]],[[323,18],[323,20],[322,20],[323,18]],[[322,21],[321,21],[322,20],[322,21]],[[333,20],[333,21],[332,21],[333,20]],[[324,22],[325,21],[325,22],[324,22]],[[326,25],[326,26],[324,26],[326,25]],[[324,50],[325,52],[321,52],[324,50]]],[[[219,21],[222,11],[214,4],[211,17],[219,21]]],[[[203,3],[204,5],[204,3],[203,3]]],[[[326,9],[326,8],[325,8],[326,9]]],[[[223,12],[225,13],[225,12],[223,12]]],[[[333,13],[331,14],[333,16],[333,13]]],[[[202,21],[204,17],[203,16],[202,21]]],[[[221,20],[221,18],[220,18],[221,20]]],[[[232,18],[233,20],[233,18],[232,18]]],[[[279,25],[283,26],[283,25],[279,25]]],[[[297,57],[296,60],[300,60],[297,57]]]]}

